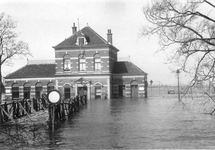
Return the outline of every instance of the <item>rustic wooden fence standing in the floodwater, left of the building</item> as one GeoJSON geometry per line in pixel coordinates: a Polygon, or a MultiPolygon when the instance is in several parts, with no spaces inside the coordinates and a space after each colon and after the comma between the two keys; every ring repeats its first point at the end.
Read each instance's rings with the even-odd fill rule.
{"type": "Polygon", "coordinates": [[[3,125],[7,122],[15,123],[16,119],[22,118],[24,116],[31,118],[32,114],[45,110],[48,110],[47,113],[49,113],[49,122],[53,117],[55,117],[57,122],[59,120],[67,119],[73,113],[78,112],[80,108],[86,104],[86,96],[79,96],[73,99],[63,100],[55,105],[49,104],[45,97],[39,99],[33,98],[13,100],[0,105],[0,125],[3,125]],[[51,115],[50,112],[53,112],[54,107],[54,115],[51,115]]]}

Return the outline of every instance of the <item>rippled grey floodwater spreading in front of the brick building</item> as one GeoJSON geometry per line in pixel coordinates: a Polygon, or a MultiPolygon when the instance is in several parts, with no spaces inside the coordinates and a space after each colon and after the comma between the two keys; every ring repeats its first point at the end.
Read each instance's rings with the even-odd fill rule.
{"type": "Polygon", "coordinates": [[[46,141],[31,149],[214,149],[215,116],[176,98],[90,100],[46,141]]]}

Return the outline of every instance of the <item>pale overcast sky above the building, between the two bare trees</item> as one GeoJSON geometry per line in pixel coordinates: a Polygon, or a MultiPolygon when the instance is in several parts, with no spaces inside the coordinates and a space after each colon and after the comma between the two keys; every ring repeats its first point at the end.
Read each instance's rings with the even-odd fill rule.
{"type": "MultiPolygon", "coordinates": [[[[149,0],[148,0],[149,1],[149,0]]],[[[19,39],[29,44],[30,60],[54,59],[53,46],[72,34],[73,23],[84,28],[87,24],[107,39],[107,29],[113,33],[113,45],[118,57],[128,57],[148,73],[154,84],[176,84],[177,78],[164,64],[165,55],[155,54],[159,49],[156,37],[141,37],[146,24],[142,13],[147,0],[1,0],[0,10],[17,21],[19,39]]],[[[3,74],[11,73],[27,64],[16,60],[13,67],[4,67],[3,74]]]]}

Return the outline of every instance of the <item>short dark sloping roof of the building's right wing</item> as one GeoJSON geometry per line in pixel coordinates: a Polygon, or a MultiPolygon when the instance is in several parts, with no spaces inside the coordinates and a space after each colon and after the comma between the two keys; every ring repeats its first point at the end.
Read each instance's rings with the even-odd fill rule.
{"type": "Polygon", "coordinates": [[[113,66],[113,74],[119,75],[147,75],[144,71],[138,68],[135,64],[128,61],[115,62],[113,66]]]}

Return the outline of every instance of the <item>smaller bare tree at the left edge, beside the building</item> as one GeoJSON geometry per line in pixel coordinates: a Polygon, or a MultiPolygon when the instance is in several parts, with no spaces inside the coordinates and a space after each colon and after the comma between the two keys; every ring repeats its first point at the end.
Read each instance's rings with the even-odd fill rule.
{"type": "MultiPolygon", "coordinates": [[[[17,41],[16,22],[5,13],[0,14],[0,92],[2,95],[2,65],[12,64],[15,58],[31,55],[28,44],[17,41]]],[[[0,96],[1,101],[1,96],[0,96]]]]}

